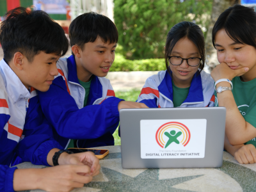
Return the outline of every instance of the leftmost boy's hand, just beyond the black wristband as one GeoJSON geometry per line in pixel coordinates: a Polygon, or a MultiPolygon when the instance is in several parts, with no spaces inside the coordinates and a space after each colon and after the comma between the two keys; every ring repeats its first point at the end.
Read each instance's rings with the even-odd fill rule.
{"type": "Polygon", "coordinates": [[[84,173],[81,175],[95,176],[99,174],[100,164],[99,159],[93,154],[93,152],[83,152],[78,154],[61,154],[59,158],[59,164],[77,164],[77,165],[87,165],[90,167],[89,173],[84,173]]]}

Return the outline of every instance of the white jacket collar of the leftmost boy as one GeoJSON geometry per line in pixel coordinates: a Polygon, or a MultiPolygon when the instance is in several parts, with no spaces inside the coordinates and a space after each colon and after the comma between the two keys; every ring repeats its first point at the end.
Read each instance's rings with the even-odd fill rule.
{"type": "Polygon", "coordinates": [[[0,74],[3,77],[8,97],[11,97],[13,102],[17,102],[20,98],[30,98],[29,90],[4,60],[0,61],[0,74]]]}

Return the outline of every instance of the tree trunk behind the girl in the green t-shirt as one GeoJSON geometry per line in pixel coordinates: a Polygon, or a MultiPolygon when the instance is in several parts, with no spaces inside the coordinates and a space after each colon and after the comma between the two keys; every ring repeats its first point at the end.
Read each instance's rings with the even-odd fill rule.
{"type": "Polygon", "coordinates": [[[213,0],[212,2],[211,23],[209,24],[205,40],[206,62],[210,72],[214,67],[216,67],[216,65],[219,64],[216,49],[214,49],[212,45],[212,28],[222,12],[224,12],[230,6],[240,3],[241,0],[213,0]]]}

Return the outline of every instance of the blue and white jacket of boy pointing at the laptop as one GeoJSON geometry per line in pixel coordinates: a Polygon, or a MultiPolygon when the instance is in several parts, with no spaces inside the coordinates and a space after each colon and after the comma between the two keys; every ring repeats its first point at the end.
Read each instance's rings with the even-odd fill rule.
{"type": "Polygon", "coordinates": [[[77,79],[74,56],[60,59],[58,76],[49,91],[39,92],[38,97],[47,120],[55,128],[54,138],[63,147],[69,139],[78,140],[78,147],[114,145],[112,136],[119,123],[118,104],[109,79],[92,76],[87,106],[85,90],[77,79]]]}

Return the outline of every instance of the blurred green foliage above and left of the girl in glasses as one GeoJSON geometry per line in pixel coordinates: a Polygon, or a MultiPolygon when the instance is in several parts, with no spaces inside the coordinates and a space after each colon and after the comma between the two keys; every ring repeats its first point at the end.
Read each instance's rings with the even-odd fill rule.
{"type": "Polygon", "coordinates": [[[212,0],[114,0],[114,19],[125,57],[163,58],[166,35],[183,20],[207,28],[212,0]]]}

